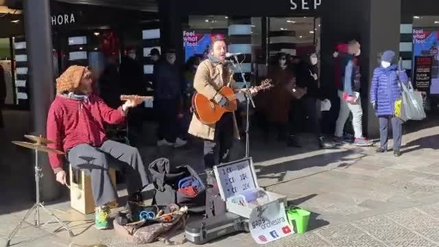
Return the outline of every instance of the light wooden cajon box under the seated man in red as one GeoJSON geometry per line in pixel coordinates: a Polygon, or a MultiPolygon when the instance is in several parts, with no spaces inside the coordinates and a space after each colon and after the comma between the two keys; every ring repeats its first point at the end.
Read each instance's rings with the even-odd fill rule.
{"type": "MultiPolygon", "coordinates": [[[[95,213],[95,200],[91,191],[90,176],[86,176],[84,171],[79,172],[77,183],[75,183],[73,169],[69,166],[70,172],[70,204],[71,208],[85,215],[95,213]]],[[[110,169],[112,185],[116,187],[116,171],[110,169]]],[[[110,202],[110,207],[117,207],[117,201],[110,202]]]]}

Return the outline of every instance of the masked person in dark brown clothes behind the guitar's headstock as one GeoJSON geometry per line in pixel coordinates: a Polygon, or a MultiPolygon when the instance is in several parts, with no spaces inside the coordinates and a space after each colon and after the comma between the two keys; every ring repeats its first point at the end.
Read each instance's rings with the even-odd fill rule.
{"type": "Polygon", "coordinates": [[[276,64],[268,69],[268,78],[272,79],[274,88],[270,91],[261,93],[264,104],[259,104],[264,119],[264,137],[269,140],[270,126],[277,129],[278,141],[285,141],[287,134],[287,124],[289,120],[289,109],[291,95],[287,91],[287,84],[294,82],[295,76],[289,67],[289,56],[285,53],[277,55],[276,64]]]}

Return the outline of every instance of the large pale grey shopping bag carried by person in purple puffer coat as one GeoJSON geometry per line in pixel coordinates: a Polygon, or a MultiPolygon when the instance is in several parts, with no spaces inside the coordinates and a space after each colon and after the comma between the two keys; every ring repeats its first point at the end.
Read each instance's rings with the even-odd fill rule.
{"type": "Polygon", "coordinates": [[[407,85],[401,82],[400,84],[403,89],[400,118],[403,121],[425,119],[426,115],[423,106],[422,93],[415,91],[410,82],[408,82],[407,85]]]}

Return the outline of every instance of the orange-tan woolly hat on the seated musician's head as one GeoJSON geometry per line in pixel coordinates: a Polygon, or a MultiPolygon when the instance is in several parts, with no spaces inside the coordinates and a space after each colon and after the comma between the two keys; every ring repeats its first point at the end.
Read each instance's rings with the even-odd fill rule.
{"type": "Polygon", "coordinates": [[[85,67],[73,65],[56,79],[56,93],[72,92],[78,89],[85,67]]]}

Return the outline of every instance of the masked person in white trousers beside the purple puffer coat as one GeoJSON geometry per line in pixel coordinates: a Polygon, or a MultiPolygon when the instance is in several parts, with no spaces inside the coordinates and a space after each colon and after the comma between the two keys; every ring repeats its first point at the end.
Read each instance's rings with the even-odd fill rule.
{"type": "Polygon", "coordinates": [[[361,54],[360,44],[357,40],[348,43],[348,53],[340,53],[341,63],[341,83],[338,88],[338,97],[340,97],[340,113],[335,123],[335,143],[341,144],[343,141],[344,124],[349,117],[353,115],[353,128],[355,132],[355,145],[369,146],[373,145],[363,136],[363,109],[361,108],[360,74],[359,67],[355,65],[355,57],[361,54]]]}

